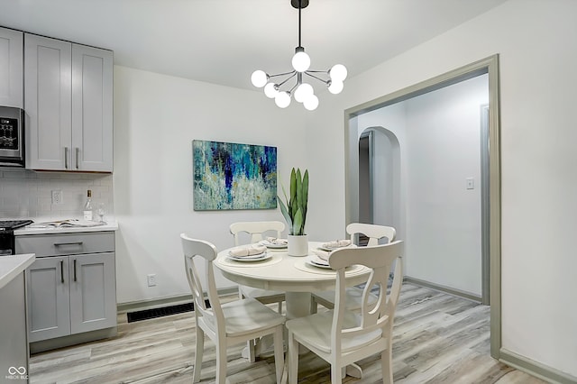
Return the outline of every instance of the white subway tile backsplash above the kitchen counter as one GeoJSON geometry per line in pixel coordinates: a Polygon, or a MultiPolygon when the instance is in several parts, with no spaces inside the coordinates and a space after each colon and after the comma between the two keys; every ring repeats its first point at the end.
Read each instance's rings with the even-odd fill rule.
{"type": "Polygon", "coordinates": [[[106,216],[114,216],[113,177],[103,174],[0,170],[0,218],[75,218],[81,216],[92,190],[95,206],[105,204],[106,216]],[[52,205],[51,193],[61,190],[63,203],[52,205]]]}

